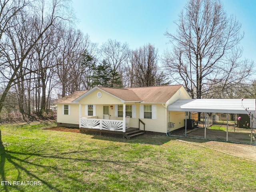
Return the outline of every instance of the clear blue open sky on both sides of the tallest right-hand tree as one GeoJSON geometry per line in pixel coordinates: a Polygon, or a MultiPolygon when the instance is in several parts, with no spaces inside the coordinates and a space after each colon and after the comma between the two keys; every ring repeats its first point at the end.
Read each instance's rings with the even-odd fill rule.
{"type": "MultiPolygon", "coordinates": [[[[101,45],[108,39],[127,42],[131,49],[151,43],[159,50],[171,48],[164,32],[174,33],[178,14],[187,0],[73,0],[77,27],[101,45]]],[[[256,0],[222,0],[228,16],[242,24],[242,58],[256,62],[256,0]]]]}

